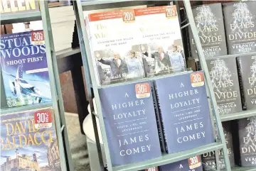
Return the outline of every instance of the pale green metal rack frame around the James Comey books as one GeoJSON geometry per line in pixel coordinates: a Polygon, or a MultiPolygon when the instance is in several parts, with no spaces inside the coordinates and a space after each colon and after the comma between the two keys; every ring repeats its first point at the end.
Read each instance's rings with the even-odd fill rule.
{"type": "MultiPolygon", "coordinates": [[[[210,80],[210,75],[208,72],[208,67],[206,65],[206,58],[203,55],[203,48],[198,36],[198,32],[196,29],[195,21],[193,19],[193,13],[191,9],[191,4],[190,1],[184,0],[184,7],[186,9],[186,15],[188,17],[188,23],[181,27],[185,28],[190,26],[193,37],[196,43],[196,47],[198,49],[198,55],[199,55],[199,60],[201,62],[201,67],[205,76],[205,82],[208,88],[208,94],[210,96],[210,100],[213,106],[213,122],[215,122],[217,129],[218,129],[218,136],[216,138],[215,143],[211,143],[209,145],[203,145],[199,148],[193,148],[192,150],[186,150],[182,151],[179,153],[172,153],[172,154],[164,154],[160,158],[154,158],[152,160],[146,160],[144,162],[136,162],[132,163],[129,165],[121,165],[117,167],[112,166],[111,158],[110,158],[110,150],[108,148],[108,142],[107,142],[107,134],[105,131],[105,124],[103,121],[103,116],[102,116],[102,110],[101,110],[101,104],[100,104],[100,97],[98,93],[98,89],[102,87],[109,87],[109,85],[105,86],[98,86],[97,81],[95,78],[95,70],[92,65],[92,56],[90,53],[90,45],[89,45],[89,40],[87,36],[87,31],[85,28],[85,18],[83,15],[83,11],[88,11],[88,10],[95,10],[95,9],[112,9],[112,8],[117,8],[117,7],[125,7],[125,6],[138,6],[138,5],[147,5],[147,6],[155,6],[157,3],[161,3],[161,5],[166,2],[166,5],[169,5],[171,1],[127,1],[127,0],[119,0],[119,1],[85,1],[81,2],[80,0],[74,1],[74,8],[75,8],[75,16],[76,16],[76,21],[77,21],[77,26],[78,26],[78,36],[80,40],[80,49],[82,53],[82,62],[85,68],[85,80],[87,84],[87,92],[89,96],[89,102],[90,102],[90,111],[92,111],[92,123],[95,131],[95,140],[96,140],[96,145],[97,145],[97,152],[99,156],[99,161],[100,161],[100,166],[101,170],[106,170],[106,168],[103,165],[103,160],[102,160],[102,153],[100,149],[100,140],[99,136],[97,133],[97,124],[96,124],[96,117],[99,118],[100,121],[100,128],[102,131],[102,140],[104,143],[104,149],[105,149],[105,155],[106,155],[106,160],[107,160],[107,170],[110,171],[132,171],[132,170],[143,170],[149,167],[156,167],[160,165],[166,165],[171,162],[177,162],[179,160],[184,160],[187,158],[191,158],[195,155],[201,155],[203,153],[208,153],[210,151],[215,151],[215,160],[216,163],[219,163],[219,155],[218,155],[218,150],[223,150],[223,158],[225,161],[225,167],[226,170],[231,171],[230,168],[230,161],[228,158],[228,150],[227,146],[225,144],[225,135],[223,133],[223,126],[222,126],[222,121],[230,121],[238,118],[246,118],[249,116],[255,116],[255,111],[242,111],[237,114],[230,114],[230,115],[224,115],[220,116],[218,112],[218,106],[215,100],[215,94],[213,92],[213,85],[210,80]],[[92,104],[92,98],[95,97],[95,102],[97,106],[97,115],[95,114],[95,110],[93,108],[92,104]]],[[[173,1],[172,1],[173,2],[173,1]]],[[[177,1],[175,2],[176,5],[178,5],[177,1]]],[[[177,8],[179,9],[179,8],[177,8]]],[[[181,21],[180,21],[181,22],[181,21]]],[[[176,73],[173,75],[181,75],[184,72],[176,73]]],[[[170,77],[171,75],[168,75],[166,77],[170,77]]],[[[137,81],[134,82],[142,82],[142,81],[149,81],[153,80],[156,78],[152,77],[147,77],[144,79],[138,79],[137,81]]],[[[123,85],[123,84],[128,84],[132,82],[124,82],[124,83],[119,83],[115,85],[123,85]]],[[[216,165],[217,170],[220,170],[220,166],[216,165]]],[[[245,168],[245,167],[238,167],[232,170],[256,170],[255,168],[245,168]]]]}

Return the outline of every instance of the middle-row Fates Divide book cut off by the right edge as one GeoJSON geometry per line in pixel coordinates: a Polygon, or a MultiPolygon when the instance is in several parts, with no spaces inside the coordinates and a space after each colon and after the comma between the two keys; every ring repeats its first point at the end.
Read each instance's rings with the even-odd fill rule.
{"type": "Polygon", "coordinates": [[[244,55],[237,58],[238,73],[243,106],[245,109],[256,107],[256,55],[244,55]]]}

